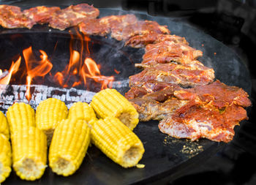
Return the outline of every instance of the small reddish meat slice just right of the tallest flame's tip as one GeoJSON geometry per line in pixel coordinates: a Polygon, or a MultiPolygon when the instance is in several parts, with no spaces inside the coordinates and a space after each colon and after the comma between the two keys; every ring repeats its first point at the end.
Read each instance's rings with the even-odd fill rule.
{"type": "Polygon", "coordinates": [[[83,23],[79,24],[79,30],[83,34],[100,36],[106,36],[110,32],[110,29],[108,29],[105,24],[100,23],[99,19],[88,19],[83,21],[83,23]]]}

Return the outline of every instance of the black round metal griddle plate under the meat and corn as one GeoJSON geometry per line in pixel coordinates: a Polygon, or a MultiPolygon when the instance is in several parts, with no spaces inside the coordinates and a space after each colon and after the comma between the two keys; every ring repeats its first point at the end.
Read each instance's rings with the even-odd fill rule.
{"type": "MultiPolygon", "coordinates": [[[[238,58],[233,50],[230,50],[230,48],[227,48],[222,42],[217,41],[203,31],[197,30],[189,26],[189,24],[175,18],[151,17],[146,14],[111,9],[99,9],[99,11],[100,17],[133,13],[139,19],[155,20],[160,25],[167,25],[171,34],[185,37],[190,46],[203,51],[203,57],[199,58],[199,60],[206,67],[214,68],[216,79],[228,86],[244,88],[244,90],[250,94],[252,84],[249,71],[246,69],[243,61],[238,58]]],[[[59,34],[61,36],[61,34],[68,33],[67,31],[50,30],[49,32],[48,26],[36,26],[31,30],[0,29],[0,36],[25,33],[48,33],[59,34]]],[[[97,37],[97,39],[100,38],[97,37]]],[[[124,49],[125,53],[132,58],[131,61],[135,63],[142,61],[141,57],[143,52],[140,51],[140,54],[138,54],[137,49],[123,48],[124,43],[117,42],[114,39],[108,39],[108,41],[113,42],[113,45],[119,45],[120,48],[118,49],[124,49]]],[[[111,61],[109,62],[111,63],[111,61]]],[[[118,62],[121,64],[122,61],[118,62]]],[[[139,72],[138,69],[132,70],[139,72]]],[[[127,87],[124,89],[123,94],[124,91],[127,91],[127,87]]],[[[224,143],[217,143],[206,139],[200,139],[196,142],[190,142],[185,139],[178,140],[159,132],[157,125],[158,121],[140,122],[138,127],[134,130],[138,137],[140,137],[140,140],[142,140],[146,150],[143,159],[140,161],[140,164],[146,165],[143,169],[136,167],[124,169],[108,159],[108,157],[102,154],[97,148],[91,146],[82,165],[74,175],[61,177],[52,173],[50,167],[47,167],[45,174],[38,181],[21,181],[20,178],[12,172],[4,184],[71,185],[149,183],[157,181],[159,178],[165,178],[167,175],[178,177],[191,169],[191,167],[202,164],[209,156],[216,154],[217,151],[225,145],[224,143]]]]}

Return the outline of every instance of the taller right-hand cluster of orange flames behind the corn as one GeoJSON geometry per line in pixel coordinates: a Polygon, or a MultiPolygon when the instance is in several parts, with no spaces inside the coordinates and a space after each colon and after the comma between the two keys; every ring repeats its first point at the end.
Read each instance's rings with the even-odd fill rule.
{"type": "MultiPolygon", "coordinates": [[[[69,32],[71,35],[71,40],[69,42],[69,64],[62,72],[56,72],[53,77],[56,83],[59,83],[59,85],[64,88],[67,88],[68,86],[80,86],[82,83],[84,83],[84,85],[86,86],[86,79],[91,78],[95,82],[101,84],[101,89],[111,88],[114,80],[113,76],[107,77],[101,75],[99,70],[100,65],[96,64],[96,62],[91,58],[86,57],[86,59],[83,61],[83,56],[90,56],[89,41],[91,39],[89,37],[86,37],[85,35],[82,36],[77,31],[76,35],[80,40],[80,50],[74,50],[72,42],[74,40],[74,35],[71,31],[69,32]]],[[[116,73],[118,73],[118,71],[116,71],[116,73]]]]}

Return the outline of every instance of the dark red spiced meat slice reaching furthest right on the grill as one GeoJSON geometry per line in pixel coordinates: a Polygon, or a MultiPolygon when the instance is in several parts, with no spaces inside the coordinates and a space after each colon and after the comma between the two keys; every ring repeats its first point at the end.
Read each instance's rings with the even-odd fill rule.
{"type": "Polygon", "coordinates": [[[206,102],[208,105],[222,109],[227,105],[235,104],[242,107],[249,107],[252,102],[249,100],[249,95],[242,88],[236,86],[227,86],[216,80],[207,86],[195,86],[181,91],[175,91],[174,95],[178,99],[195,99],[198,97],[200,101],[206,102]]]}

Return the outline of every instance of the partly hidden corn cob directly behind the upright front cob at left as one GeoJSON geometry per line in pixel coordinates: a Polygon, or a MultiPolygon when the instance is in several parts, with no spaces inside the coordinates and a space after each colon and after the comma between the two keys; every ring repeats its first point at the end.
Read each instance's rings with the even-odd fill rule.
{"type": "Polygon", "coordinates": [[[35,127],[34,109],[25,103],[15,103],[7,110],[7,121],[10,133],[23,127],[35,127]]]}

